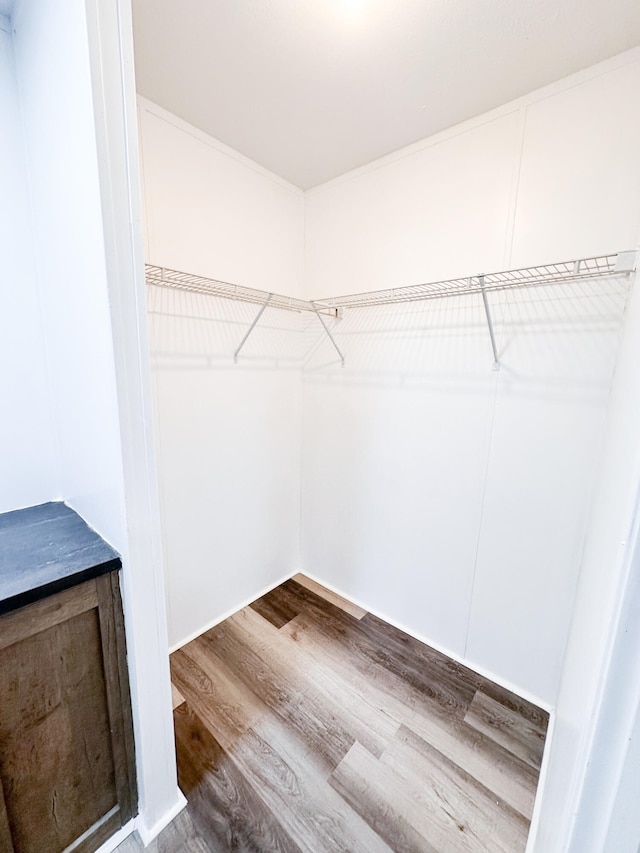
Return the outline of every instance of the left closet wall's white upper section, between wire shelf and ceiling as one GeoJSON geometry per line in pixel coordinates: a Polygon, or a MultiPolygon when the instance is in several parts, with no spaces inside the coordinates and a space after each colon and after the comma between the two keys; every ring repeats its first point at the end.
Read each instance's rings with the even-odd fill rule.
{"type": "Polygon", "coordinates": [[[299,294],[302,192],[150,101],[139,105],[147,260],[299,294]]]}

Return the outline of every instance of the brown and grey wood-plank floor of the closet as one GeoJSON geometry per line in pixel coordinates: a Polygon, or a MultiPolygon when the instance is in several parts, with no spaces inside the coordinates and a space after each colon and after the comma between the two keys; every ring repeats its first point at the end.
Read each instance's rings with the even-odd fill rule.
{"type": "Polygon", "coordinates": [[[171,674],[189,805],[152,853],[525,849],[547,714],[313,581],[193,640],[171,674]]]}

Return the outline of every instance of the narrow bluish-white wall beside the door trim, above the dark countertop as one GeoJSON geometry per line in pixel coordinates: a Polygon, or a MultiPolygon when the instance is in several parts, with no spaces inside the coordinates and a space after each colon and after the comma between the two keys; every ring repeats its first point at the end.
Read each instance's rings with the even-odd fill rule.
{"type": "Polygon", "coordinates": [[[122,460],[84,5],[21,2],[13,24],[59,494],[122,547],[122,460]]]}

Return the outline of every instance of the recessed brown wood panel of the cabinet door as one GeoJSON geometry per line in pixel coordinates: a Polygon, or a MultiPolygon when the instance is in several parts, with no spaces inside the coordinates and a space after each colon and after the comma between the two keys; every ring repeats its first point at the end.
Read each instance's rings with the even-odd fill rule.
{"type": "Polygon", "coordinates": [[[97,608],[0,649],[0,672],[13,845],[58,853],[117,806],[97,608]]]}

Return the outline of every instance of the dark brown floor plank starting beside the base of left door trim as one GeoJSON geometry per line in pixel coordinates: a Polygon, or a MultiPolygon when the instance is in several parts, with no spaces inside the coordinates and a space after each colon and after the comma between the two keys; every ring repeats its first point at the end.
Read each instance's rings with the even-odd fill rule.
{"type": "Polygon", "coordinates": [[[278,817],[185,703],[174,714],[178,784],[198,835],[214,850],[299,853],[278,817]]]}

